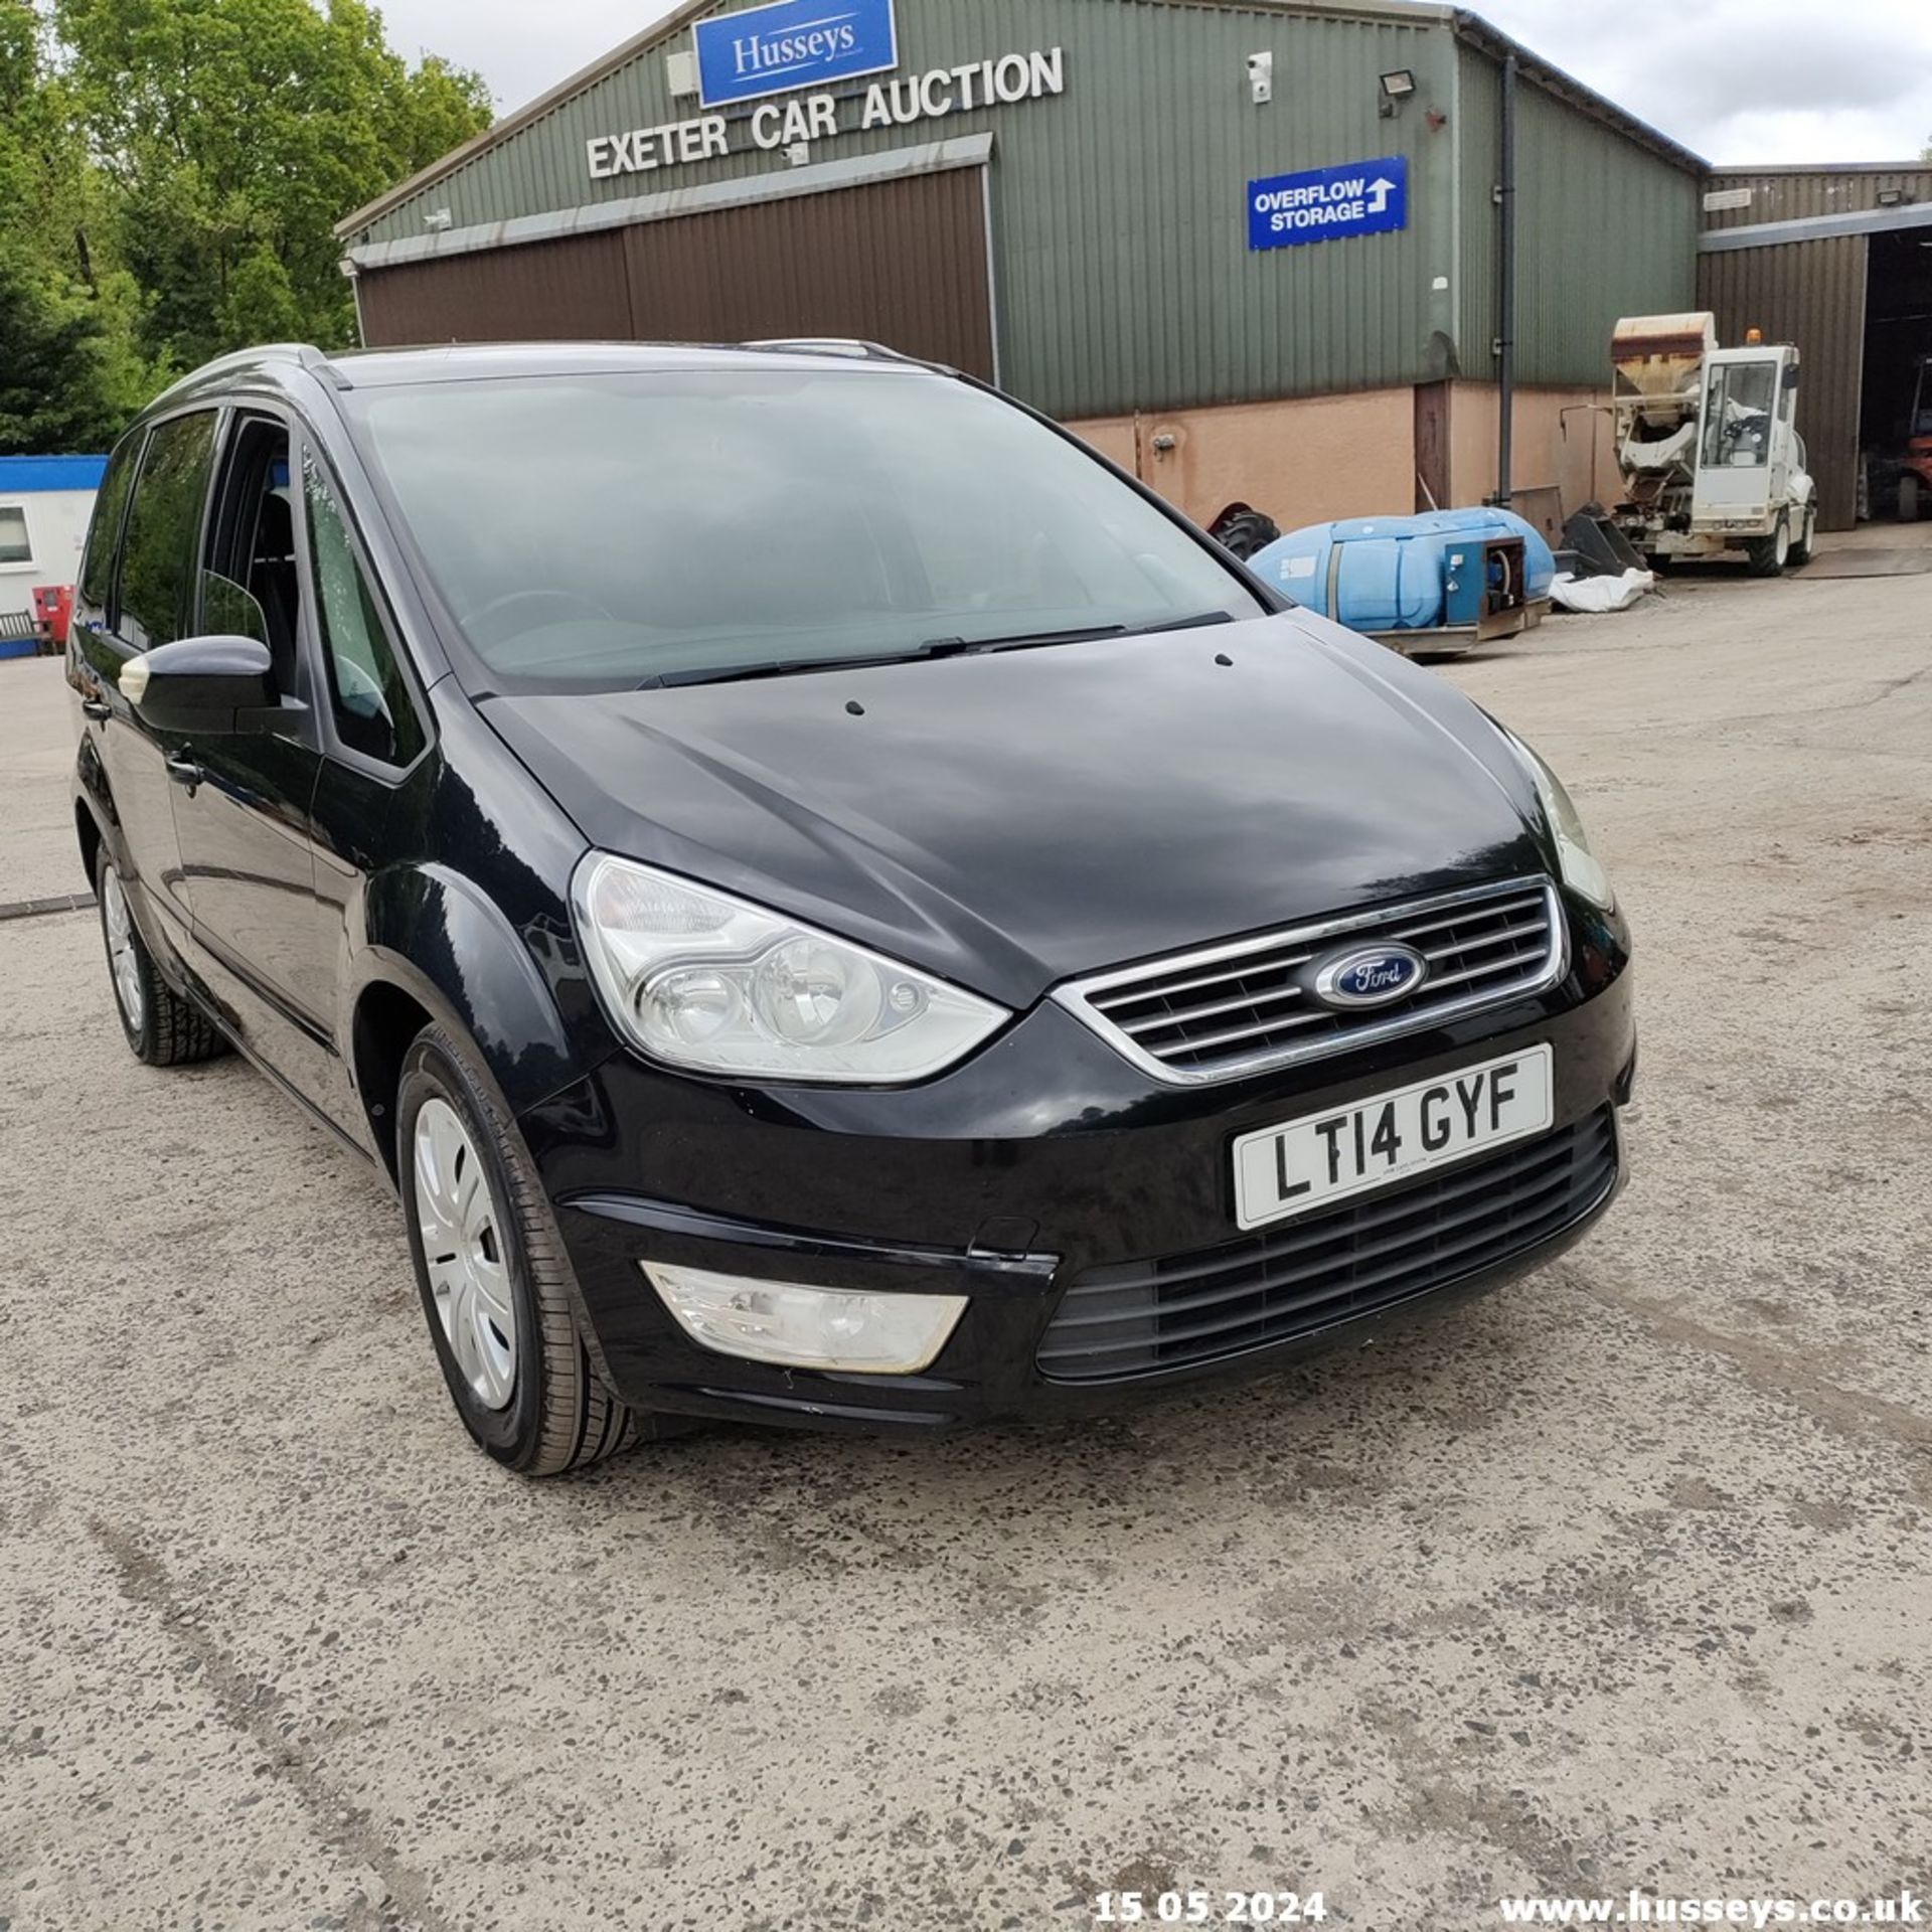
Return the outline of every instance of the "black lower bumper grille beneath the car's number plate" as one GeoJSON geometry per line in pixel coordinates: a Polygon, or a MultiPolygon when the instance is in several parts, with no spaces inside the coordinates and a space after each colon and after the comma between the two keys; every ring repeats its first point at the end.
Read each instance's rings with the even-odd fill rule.
{"type": "Polygon", "coordinates": [[[1399,1194],[1198,1254],[1080,1275],[1039,1339],[1053,1381],[1121,1381],[1293,1341],[1499,1267],[1617,1180],[1611,1109],[1399,1194]]]}

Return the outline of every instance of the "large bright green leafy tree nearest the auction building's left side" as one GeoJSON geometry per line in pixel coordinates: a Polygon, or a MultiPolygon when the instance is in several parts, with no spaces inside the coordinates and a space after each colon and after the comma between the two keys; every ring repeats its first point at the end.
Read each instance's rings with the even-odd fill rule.
{"type": "Polygon", "coordinates": [[[412,68],[365,0],[54,0],[52,21],[151,361],[354,340],[334,222],[489,122],[473,73],[412,68]]]}

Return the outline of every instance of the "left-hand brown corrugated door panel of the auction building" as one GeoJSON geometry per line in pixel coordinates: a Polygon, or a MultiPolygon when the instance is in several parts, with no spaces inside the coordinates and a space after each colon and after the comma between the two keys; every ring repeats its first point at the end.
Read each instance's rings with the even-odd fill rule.
{"type": "Polygon", "coordinates": [[[363,342],[618,340],[632,334],[618,234],[533,242],[371,269],[357,284],[363,342]]]}

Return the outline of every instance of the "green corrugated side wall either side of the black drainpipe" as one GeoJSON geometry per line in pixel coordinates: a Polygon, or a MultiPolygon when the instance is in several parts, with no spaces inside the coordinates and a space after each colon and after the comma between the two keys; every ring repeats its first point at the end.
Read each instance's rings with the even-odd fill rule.
{"type": "MultiPolygon", "coordinates": [[[[1463,122],[1463,375],[1493,381],[1495,187],[1503,70],[1459,50],[1463,122]]],[[[1694,174],[1517,83],[1517,381],[1609,383],[1619,315],[1694,307],[1694,174]]]]}

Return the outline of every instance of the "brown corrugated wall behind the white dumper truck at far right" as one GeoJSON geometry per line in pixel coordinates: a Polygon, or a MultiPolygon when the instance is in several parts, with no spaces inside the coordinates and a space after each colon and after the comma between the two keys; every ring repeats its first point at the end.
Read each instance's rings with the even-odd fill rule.
{"type": "Polygon", "coordinates": [[[1735,348],[1747,328],[1799,346],[1799,435],[1818,483],[1818,527],[1859,518],[1859,390],[1864,379],[1864,236],[1698,255],[1698,301],[1735,348]]]}

